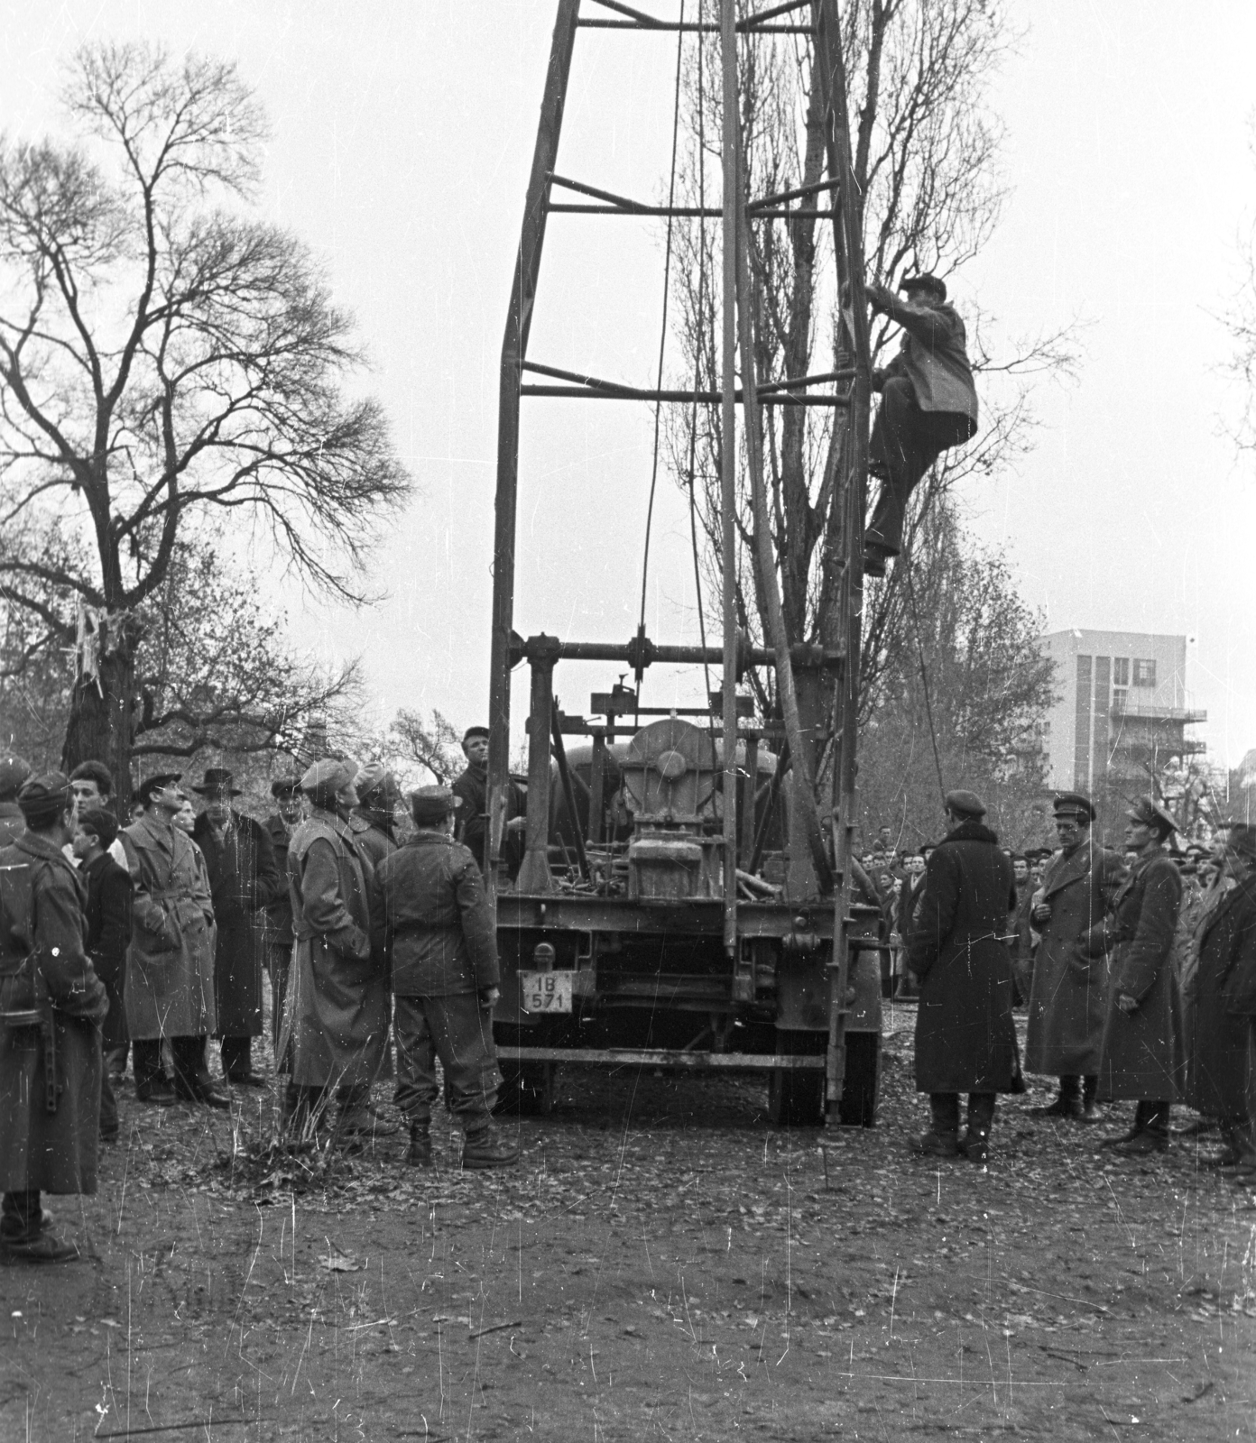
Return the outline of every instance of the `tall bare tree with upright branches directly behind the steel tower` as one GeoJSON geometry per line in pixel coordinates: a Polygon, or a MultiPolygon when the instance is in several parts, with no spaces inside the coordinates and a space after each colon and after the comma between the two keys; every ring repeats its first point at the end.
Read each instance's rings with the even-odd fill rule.
{"type": "MultiPolygon", "coordinates": [[[[986,87],[1008,45],[1002,9],[987,0],[852,0],[843,7],[843,43],[850,78],[853,166],[863,198],[869,273],[886,283],[930,270],[950,274],[976,255],[998,224],[1003,189],[998,170],[1002,127],[986,104],[986,87]]],[[[813,85],[808,45],[755,38],[741,56],[739,117],[751,198],[814,186],[824,173],[821,104],[813,85]]],[[[719,87],[713,42],[694,48],[686,71],[687,150],[681,172],[686,203],[709,205],[718,175],[719,87]]],[[[752,228],[754,329],[762,382],[782,382],[837,369],[839,351],[833,237],[820,218],[829,198],[795,203],[788,221],[752,228]]],[[[719,304],[718,227],[677,228],[680,341],[687,382],[719,387],[715,323],[719,304]]],[[[964,450],[946,453],[918,488],[908,518],[910,557],[923,517],[966,476],[1008,465],[1028,444],[1025,381],[1068,361],[1063,335],[986,352],[982,317],[970,317],[973,359],[986,377],[1011,375],[982,395],[982,431],[964,450]],[[996,394],[995,394],[996,391],[996,394]]],[[[888,323],[873,329],[875,355],[895,341],[888,323]]],[[[985,390],[985,388],[983,388],[985,390]]],[[[846,433],[840,413],[803,407],[764,410],[764,462],[769,488],[772,547],[791,641],[832,641],[840,579],[837,476],[846,433]],[[837,417],[834,420],[834,416],[837,417]]],[[[696,524],[705,532],[707,590],[719,574],[719,476],[723,437],[716,408],[694,410],[673,424],[673,472],[690,489],[696,524]]],[[[752,547],[749,488],[742,485],[739,545],[752,547]]],[[[899,563],[889,582],[869,586],[865,631],[869,645],[860,683],[872,698],[878,678],[904,639],[899,563]]],[[[764,597],[752,567],[736,603],[742,625],[764,633],[764,597]]],[[[768,706],[771,698],[761,696],[768,706]]]]}

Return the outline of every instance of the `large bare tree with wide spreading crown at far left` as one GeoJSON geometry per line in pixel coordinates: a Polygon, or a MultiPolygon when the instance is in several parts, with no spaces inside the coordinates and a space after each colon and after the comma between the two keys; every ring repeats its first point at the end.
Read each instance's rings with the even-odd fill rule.
{"type": "Polygon", "coordinates": [[[235,68],[92,45],[64,100],[79,143],[0,143],[0,587],[35,615],[40,586],[94,613],[64,755],[126,786],[141,608],[186,528],[232,518],[361,599],[409,481],[380,405],[344,390],[351,317],[248,211],[266,130],[235,68]],[[53,525],[81,551],[19,544],[53,525]]]}

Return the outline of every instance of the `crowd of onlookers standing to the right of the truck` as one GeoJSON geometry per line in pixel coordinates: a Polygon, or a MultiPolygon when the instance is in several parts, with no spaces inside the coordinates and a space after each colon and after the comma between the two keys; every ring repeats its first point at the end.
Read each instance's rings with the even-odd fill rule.
{"type": "Polygon", "coordinates": [[[882,828],[858,874],[882,911],[884,994],[928,1004],[917,1085],[933,1095],[934,1130],[918,1150],[985,1160],[995,1095],[1024,1091],[1024,1066],[1060,1084],[1038,1115],[1099,1123],[1103,1102],[1135,1101],[1130,1130],[1104,1141],[1135,1156],[1169,1146],[1171,1108],[1187,1102],[1201,1114],[1192,1134],[1223,1136],[1204,1165],[1256,1180],[1256,828],[1236,820],[1207,844],[1184,838],[1143,797],[1116,850],[1091,835],[1090,799],[1064,792],[1058,847],[1016,853],[973,794],[948,794],[947,815],[951,830],[920,853],[895,851],[882,828]],[[1024,1056],[1016,1009],[1028,1010],[1024,1056]],[[956,1088],[970,1118],[977,1105],[976,1133],[959,1143],[956,1088]]]}

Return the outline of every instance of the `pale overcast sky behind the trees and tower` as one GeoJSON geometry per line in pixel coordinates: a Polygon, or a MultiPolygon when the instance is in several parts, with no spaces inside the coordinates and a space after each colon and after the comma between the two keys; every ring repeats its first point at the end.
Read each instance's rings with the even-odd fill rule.
{"type": "MultiPolygon", "coordinates": [[[[654,0],[660,14],[673,0],[654,0]]],[[[0,127],[58,124],[59,62],[88,38],[146,36],[235,58],[273,126],[267,214],[302,234],[357,313],[374,388],[419,494],[380,547],[387,599],[351,615],[284,600],[302,645],[362,654],[380,719],[488,697],[497,367],[549,53],[550,0],[0,7],[0,127]]],[[[953,293],[1015,336],[1078,320],[1077,381],[1035,395],[1037,447],[963,496],[1050,629],[1185,632],[1201,734],[1256,746],[1256,466],[1226,427],[1240,397],[1216,319],[1256,218],[1256,6],[1021,0],[993,89],[1012,195],[953,293]]],[[[563,173],[655,198],[674,42],[582,32],[563,173]]],[[[530,354],[647,382],[661,247],[629,221],[550,222],[530,354]]],[[[525,403],[515,625],[627,641],[637,625],[650,417],[618,403],[525,403]]],[[[648,629],[696,641],[687,517],[660,481],[648,629]]],[[[564,667],[567,710],[612,680],[564,667]]],[[[700,675],[650,677],[654,704],[700,675]]],[[[515,687],[515,716],[525,710],[515,687]]]]}

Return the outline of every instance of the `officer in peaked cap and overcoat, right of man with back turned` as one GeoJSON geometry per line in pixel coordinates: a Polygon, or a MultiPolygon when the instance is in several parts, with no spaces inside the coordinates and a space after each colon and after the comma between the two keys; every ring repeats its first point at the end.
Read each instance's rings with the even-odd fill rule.
{"type": "Polygon", "coordinates": [[[1032,911],[1041,934],[1029,991],[1025,1071],[1060,1078],[1060,1095],[1037,1117],[1097,1121],[1099,1049],[1107,1013],[1107,958],[1091,934],[1125,879],[1125,864],[1091,835],[1094,807],[1080,792],[1055,798],[1060,851],[1048,861],[1032,911]]]}

